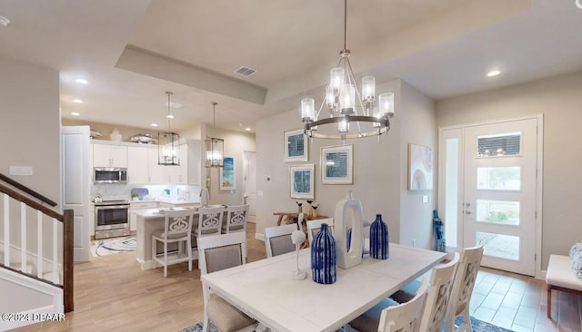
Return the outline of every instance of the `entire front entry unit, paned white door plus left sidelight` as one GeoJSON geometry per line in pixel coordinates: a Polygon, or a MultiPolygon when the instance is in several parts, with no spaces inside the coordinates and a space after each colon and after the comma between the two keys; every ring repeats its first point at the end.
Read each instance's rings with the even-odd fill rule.
{"type": "Polygon", "coordinates": [[[439,211],[449,249],[483,243],[481,265],[539,274],[541,125],[539,116],[439,130],[439,211]]]}

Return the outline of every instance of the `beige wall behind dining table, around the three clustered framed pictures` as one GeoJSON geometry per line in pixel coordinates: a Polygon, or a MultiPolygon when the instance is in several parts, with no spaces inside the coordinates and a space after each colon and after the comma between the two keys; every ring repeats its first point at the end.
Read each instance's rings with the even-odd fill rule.
{"type": "Polygon", "coordinates": [[[376,213],[382,214],[383,220],[388,224],[391,241],[398,243],[404,236],[409,242],[417,239],[418,247],[427,245],[426,239],[431,235],[432,203],[420,209],[416,202],[420,199],[419,196],[407,190],[407,144],[416,142],[436,147],[434,104],[400,80],[378,85],[376,91],[395,93],[396,116],[392,119],[392,129],[380,138],[380,142],[377,142],[376,137],[346,141],[346,144],[354,144],[352,185],[321,184],[320,149],[341,145],[339,140],[314,139],[309,145],[309,161],[284,162],[284,132],[303,127],[297,109],[257,122],[256,188],[259,192],[263,191],[263,195],[257,198],[258,234],[263,234],[265,227],[276,225],[273,212],[297,210],[296,200],[291,199],[289,194],[289,166],[314,163],[315,200],[320,203],[320,215],[333,217],[337,201],[345,198],[347,190],[352,190],[354,198],[362,201],[364,217],[367,220],[374,220],[376,213]],[[270,181],[266,181],[267,176],[270,181]]]}

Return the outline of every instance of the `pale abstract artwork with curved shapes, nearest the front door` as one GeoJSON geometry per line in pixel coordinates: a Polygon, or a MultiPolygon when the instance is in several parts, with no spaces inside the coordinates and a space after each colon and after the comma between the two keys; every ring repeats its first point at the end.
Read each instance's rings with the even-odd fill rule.
{"type": "Polygon", "coordinates": [[[433,151],[422,145],[408,144],[408,190],[433,189],[433,151]]]}

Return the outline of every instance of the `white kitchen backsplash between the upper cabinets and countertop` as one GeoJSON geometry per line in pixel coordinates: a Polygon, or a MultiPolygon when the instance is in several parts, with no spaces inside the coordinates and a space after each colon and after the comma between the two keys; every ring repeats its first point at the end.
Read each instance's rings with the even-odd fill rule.
{"type": "Polygon", "coordinates": [[[179,199],[179,200],[199,200],[200,187],[186,185],[149,185],[135,186],[134,184],[122,183],[91,183],[89,185],[90,200],[93,201],[95,194],[101,194],[103,200],[131,200],[131,190],[139,187],[146,188],[149,196],[154,199],[179,199]],[[166,194],[169,190],[169,196],[166,194]]]}

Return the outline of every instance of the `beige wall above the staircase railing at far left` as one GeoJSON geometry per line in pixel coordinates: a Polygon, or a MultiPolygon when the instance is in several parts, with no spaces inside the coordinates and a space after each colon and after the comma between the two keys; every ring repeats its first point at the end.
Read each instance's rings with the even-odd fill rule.
{"type": "Polygon", "coordinates": [[[55,200],[61,210],[59,82],[55,70],[0,58],[0,172],[55,200]]]}

